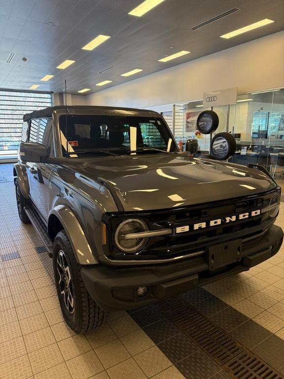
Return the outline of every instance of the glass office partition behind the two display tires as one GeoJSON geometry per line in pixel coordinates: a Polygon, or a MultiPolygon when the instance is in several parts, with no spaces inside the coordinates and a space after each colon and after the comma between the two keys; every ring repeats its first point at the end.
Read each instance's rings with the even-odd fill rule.
{"type": "MultiPolygon", "coordinates": [[[[198,115],[209,109],[202,100],[175,105],[174,135],[183,147],[188,138],[197,138],[199,151],[210,152],[210,136],[200,135],[196,129],[198,115]]],[[[260,163],[284,183],[284,89],[239,94],[236,104],[213,107],[213,111],[219,116],[213,135],[229,132],[236,139],[237,151],[230,160],[244,165],[260,163]]]]}

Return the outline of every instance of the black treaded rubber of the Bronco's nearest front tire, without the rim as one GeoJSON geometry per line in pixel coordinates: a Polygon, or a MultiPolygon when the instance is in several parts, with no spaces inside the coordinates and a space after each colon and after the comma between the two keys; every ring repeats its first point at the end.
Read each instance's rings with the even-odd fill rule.
{"type": "MultiPolygon", "coordinates": [[[[76,261],[65,230],[58,232],[53,243],[53,270],[61,311],[69,327],[76,333],[87,333],[101,326],[106,317],[106,312],[97,305],[87,292],[81,277],[81,265],[76,261]],[[72,312],[68,309],[65,303],[66,297],[64,297],[61,292],[63,281],[61,281],[61,286],[59,284],[61,278],[59,270],[61,271],[61,266],[58,266],[58,259],[60,260],[62,257],[64,260],[66,259],[71,274],[74,304],[72,312]]],[[[70,302],[67,303],[69,303],[70,306],[70,302]]]]}

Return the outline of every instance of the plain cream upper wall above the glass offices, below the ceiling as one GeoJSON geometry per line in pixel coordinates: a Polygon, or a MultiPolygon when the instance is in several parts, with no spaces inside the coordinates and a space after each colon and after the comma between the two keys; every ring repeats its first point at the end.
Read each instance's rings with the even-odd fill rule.
{"type": "Polygon", "coordinates": [[[238,87],[240,93],[284,87],[283,41],[284,31],[259,38],[90,94],[87,104],[153,108],[224,88],[238,87]]]}

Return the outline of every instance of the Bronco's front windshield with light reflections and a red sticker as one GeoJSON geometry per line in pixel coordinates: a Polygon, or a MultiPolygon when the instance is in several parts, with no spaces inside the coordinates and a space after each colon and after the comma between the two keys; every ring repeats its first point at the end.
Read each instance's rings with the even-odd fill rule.
{"type": "Polygon", "coordinates": [[[67,115],[66,127],[66,116],[61,115],[59,126],[64,156],[178,151],[165,121],[159,117],[67,115]]]}

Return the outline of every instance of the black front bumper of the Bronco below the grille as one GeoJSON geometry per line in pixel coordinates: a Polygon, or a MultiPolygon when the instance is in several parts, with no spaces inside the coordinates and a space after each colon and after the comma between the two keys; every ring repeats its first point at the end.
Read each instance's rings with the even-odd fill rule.
{"type": "MultiPolygon", "coordinates": [[[[283,230],[273,225],[265,233],[243,240],[238,261],[215,268],[204,256],[178,263],[147,267],[108,268],[103,265],[83,266],[84,284],[90,296],[106,311],[132,309],[176,296],[225,276],[249,270],[274,256],[283,242],[283,230]],[[147,286],[145,297],[137,296],[137,288],[147,286]]],[[[228,241],[234,246],[235,241],[228,241]]]]}

